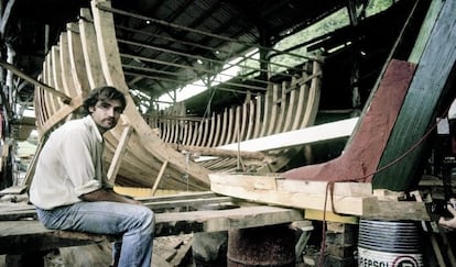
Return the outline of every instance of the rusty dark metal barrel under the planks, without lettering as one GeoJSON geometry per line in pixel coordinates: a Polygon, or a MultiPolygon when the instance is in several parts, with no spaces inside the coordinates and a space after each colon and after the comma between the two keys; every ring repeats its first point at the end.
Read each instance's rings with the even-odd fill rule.
{"type": "Polygon", "coordinates": [[[286,225],[229,231],[227,262],[228,267],[294,267],[295,233],[286,225]]]}

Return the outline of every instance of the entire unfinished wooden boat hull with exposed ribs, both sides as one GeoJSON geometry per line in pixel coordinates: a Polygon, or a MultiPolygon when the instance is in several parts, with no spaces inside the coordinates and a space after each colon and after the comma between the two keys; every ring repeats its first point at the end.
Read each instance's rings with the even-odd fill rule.
{"type": "MultiPolygon", "coordinates": [[[[145,120],[129,94],[113,15],[99,9],[100,4],[109,7],[110,2],[94,0],[91,12],[83,9],[83,19],[67,24],[58,44],[45,57],[41,81],[55,91],[47,87],[36,87],[35,90],[40,147],[50,132],[74,119],[89,88],[110,85],[126,93],[128,103],[118,126],[105,135],[105,158],[110,166],[108,177],[120,186],[207,190],[209,173],[239,169],[240,162],[242,169],[253,166],[254,171],[262,168],[274,171],[300,151],[274,151],[268,154],[268,162],[259,159],[258,155],[254,159],[243,160],[240,155],[247,154],[220,151],[211,160],[195,163],[192,158],[203,148],[215,152],[227,144],[312,125],[319,102],[319,63],[306,64],[301,77],[290,84],[271,84],[264,96],[247,99],[242,105],[205,120],[166,119],[176,113],[175,109],[169,114],[145,120]]],[[[39,154],[40,148],[35,157],[39,154]]],[[[253,156],[248,154],[247,157],[253,156]]],[[[34,162],[28,182],[33,177],[34,162]]]]}

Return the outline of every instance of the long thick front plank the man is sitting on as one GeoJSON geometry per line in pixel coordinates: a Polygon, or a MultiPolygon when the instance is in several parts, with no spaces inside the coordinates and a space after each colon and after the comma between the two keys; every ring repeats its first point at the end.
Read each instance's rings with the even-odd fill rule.
{"type": "MultiPolygon", "coordinates": [[[[193,232],[228,231],[303,220],[300,211],[276,207],[158,213],[155,237],[193,232]]],[[[112,236],[45,229],[39,221],[0,222],[0,255],[96,244],[112,236]]]]}

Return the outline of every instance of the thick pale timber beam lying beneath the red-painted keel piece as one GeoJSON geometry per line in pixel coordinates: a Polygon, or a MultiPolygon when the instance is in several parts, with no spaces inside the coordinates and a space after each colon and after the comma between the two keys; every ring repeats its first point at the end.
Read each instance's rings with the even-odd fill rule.
{"type": "Polygon", "coordinates": [[[259,203],[369,219],[430,220],[424,203],[379,200],[367,182],[335,182],[332,194],[327,181],[229,174],[210,174],[209,178],[211,191],[259,203]]]}

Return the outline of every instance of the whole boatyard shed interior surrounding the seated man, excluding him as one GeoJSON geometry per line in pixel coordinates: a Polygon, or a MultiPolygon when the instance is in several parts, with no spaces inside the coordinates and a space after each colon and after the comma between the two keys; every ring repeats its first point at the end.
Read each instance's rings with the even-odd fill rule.
{"type": "Polygon", "coordinates": [[[110,265],[118,236],[45,229],[28,196],[101,85],[152,266],[456,266],[453,1],[0,2],[0,266],[110,265]]]}

